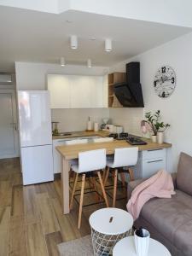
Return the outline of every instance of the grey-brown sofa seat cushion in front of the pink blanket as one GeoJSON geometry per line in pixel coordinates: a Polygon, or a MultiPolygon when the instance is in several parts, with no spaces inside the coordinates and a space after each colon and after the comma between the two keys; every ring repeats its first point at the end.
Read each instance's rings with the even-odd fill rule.
{"type": "Polygon", "coordinates": [[[176,190],[171,199],[154,198],[148,201],[140,218],[170,241],[184,255],[192,255],[192,197],[176,190]]]}

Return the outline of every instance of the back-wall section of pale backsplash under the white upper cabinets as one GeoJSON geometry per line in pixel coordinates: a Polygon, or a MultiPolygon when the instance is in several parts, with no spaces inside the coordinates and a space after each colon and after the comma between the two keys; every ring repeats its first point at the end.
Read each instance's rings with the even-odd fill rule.
{"type": "Polygon", "coordinates": [[[92,122],[102,124],[102,118],[109,118],[108,108],[51,109],[52,121],[60,122],[59,131],[84,131],[88,117],[92,122]]]}

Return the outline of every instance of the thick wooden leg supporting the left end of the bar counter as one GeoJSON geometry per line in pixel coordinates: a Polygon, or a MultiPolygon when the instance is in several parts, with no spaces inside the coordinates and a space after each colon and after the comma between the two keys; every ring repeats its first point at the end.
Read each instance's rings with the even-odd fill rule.
{"type": "Polygon", "coordinates": [[[70,162],[62,158],[62,172],[61,172],[61,188],[62,188],[62,211],[63,214],[70,212],[69,210],[69,171],[70,162]]]}

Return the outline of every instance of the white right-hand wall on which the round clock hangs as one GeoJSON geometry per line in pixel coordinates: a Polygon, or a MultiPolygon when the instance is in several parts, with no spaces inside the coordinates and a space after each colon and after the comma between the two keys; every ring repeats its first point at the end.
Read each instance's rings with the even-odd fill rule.
{"type": "MultiPolygon", "coordinates": [[[[119,63],[111,71],[125,71],[125,63],[141,62],[141,83],[145,111],[160,109],[165,122],[172,126],[166,131],[166,142],[172,143],[170,168],[177,170],[181,151],[192,155],[192,33],[151,49],[142,55],[119,63]],[[154,74],[162,65],[171,66],[177,75],[177,87],[172,96],[161,99],[153,88],[154,74]]],[[[122,112],[123,113],[123,112],[122,112]]]]}

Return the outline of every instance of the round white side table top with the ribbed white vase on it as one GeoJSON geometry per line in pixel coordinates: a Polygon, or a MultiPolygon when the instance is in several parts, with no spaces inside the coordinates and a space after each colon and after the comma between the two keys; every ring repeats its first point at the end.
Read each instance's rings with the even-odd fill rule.
{"type": "MultiPolygon", "coordinates": [[[[134,236],[125,237],[113,247],[113,256],[137,256],[134,236]]],[[[159,241],[149,240],[148,256],[172,256],[159,241]]]]}

